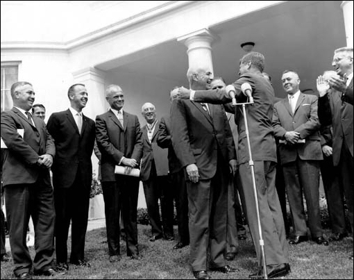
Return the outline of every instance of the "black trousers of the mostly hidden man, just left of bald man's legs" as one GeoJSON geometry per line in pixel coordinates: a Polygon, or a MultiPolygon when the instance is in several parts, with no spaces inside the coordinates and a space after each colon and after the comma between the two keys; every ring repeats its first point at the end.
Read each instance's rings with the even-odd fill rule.
{"type": "Polygon", "coordinates": [[[176,202],[178,242],[188,245],[188,198],[184,170],[169,174],[169,180],[171,182],[171,188],[174,192],[174,200],[176,202]]]}

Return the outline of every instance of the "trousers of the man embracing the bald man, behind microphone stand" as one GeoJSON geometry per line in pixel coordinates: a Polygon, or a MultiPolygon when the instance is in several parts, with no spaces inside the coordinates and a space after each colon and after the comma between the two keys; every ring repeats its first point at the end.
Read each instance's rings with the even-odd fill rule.
{"type": "MultiPolygon", "coordinates": [[[[267,265],[289,263],[289,247],[286,242],[283,214],[281,213],[275,186],[276,163],[255,161],[254,172],[267,265]]],[[[262,254],[258,217],[255,211],[255,193],[253,191],[251,167],[248,163],[239,165],[239,176],[245,199],[248,227],[255,245],[258,265],[261,265],[262,254]]]]}

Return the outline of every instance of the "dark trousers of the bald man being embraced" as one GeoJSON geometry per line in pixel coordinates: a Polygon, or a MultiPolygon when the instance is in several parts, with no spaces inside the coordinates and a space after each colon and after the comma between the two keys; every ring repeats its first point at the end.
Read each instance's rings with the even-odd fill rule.
{"type": "Polygon", "coordinates": [[[228,178],[224,170],[218,165],[212,179],[197,183],[187,181],[190,263],[193,271],[226,265],[228,178]]]}

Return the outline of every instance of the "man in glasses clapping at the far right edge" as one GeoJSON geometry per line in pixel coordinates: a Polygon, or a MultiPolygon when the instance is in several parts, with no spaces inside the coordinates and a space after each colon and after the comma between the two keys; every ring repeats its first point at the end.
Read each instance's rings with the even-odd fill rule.
{"type": "Polygon", "coordinates": [[[335,50],[332,66],[339,75],[332,76],[328,83],[331,88],[342,92],[342,100],[353,105],[353,47],[335,50]]]}

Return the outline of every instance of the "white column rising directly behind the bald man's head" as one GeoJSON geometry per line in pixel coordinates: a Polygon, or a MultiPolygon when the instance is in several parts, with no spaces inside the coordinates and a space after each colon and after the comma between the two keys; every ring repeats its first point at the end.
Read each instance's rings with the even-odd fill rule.
{"type": "MultiPolygon", "coordinates": [[[[188,66],[203,67],[214,74],[212,67],[212,42],[219,39],[208,29],[202,29],[178,38],[187,47],[188,66]]],[[[187,72],[187,69],[186,69],[187,72]]]]}

